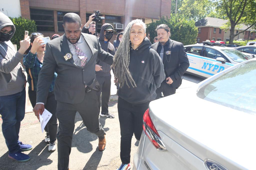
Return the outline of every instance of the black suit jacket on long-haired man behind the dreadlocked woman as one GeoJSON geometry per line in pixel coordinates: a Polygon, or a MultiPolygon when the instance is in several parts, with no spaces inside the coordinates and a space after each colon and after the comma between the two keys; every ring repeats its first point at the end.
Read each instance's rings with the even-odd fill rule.
{"type": "MultiPolygon", "coordinates": [[[[151,45],[160,55],[161,45],[156,42],[151,45]]],[[[169,39],[168,45],[164,46],[163,56],[165,78],[170,77],[173,80],[172,87],[179,87],[182,76],[189,67],[189,61],[182,43],[169,39]],[[166,51],[171,51],[170,55],[166,55],[166,51]]]]}

